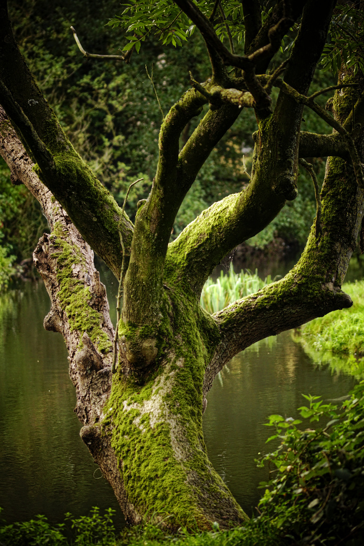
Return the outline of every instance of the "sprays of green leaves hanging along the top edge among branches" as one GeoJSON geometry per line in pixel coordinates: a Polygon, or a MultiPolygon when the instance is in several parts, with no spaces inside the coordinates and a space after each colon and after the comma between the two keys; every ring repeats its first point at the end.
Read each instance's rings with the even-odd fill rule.
{"type": "MultiPolygon", "coordinates": [[[[195,2],[199,10],[214,24],[215,32],[221,41],[233,39],[234,45],[244,45],[243,6],[239,0],[222,0],[195,2]],[[229,37],[230,34],[230,37],[229,37]]],[[[277,2],[262,0],[262,23],[271,14],[277,2]]],[[[125,29],[128,43],[122,51],[135,48],[140,50],[142,41],[149,35],[155,35],[163,45],[182,46],[195,31],[187,17],[172,0],[127,0],[121,4],[124,8],[121,15],[115,15],[108,25],[125,29]]],[[[289,35],[282,40],[281,51],[290,50],[300,23],[296,23],[289,35]],[[293,31],[293,32],[292,32],[293,31]]],[[[361,11],[355,5],[340,4],[337,6],[328,32],[327,44],[321,58],[321,67],[337,74],[338,67],[344,61],[348,67],[354,67],[354,73],[361,69],[364,72],[364,26],[361,11]]]]}

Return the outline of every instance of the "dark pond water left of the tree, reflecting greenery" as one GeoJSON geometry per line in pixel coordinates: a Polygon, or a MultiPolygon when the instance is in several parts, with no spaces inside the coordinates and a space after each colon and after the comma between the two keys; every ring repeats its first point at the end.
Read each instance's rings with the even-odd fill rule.
{"type": "Polygon", "coordinates": [[[45,513],[56,523],[65,511],[116,504],[105,480],[93,480],[66,346],[43,328],[49,308],[40,283],[0,298],[0,506],[8,521],[45,513]]]}

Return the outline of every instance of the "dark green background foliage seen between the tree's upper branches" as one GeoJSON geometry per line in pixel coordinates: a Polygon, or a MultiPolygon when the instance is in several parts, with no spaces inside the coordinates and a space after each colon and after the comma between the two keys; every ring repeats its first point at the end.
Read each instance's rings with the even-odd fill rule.
{"type": "MultiPolygon", "coordinates": [[[[173,3],[164,4],[168,4],[169,7],[161,17],[168,26],[179,10],[173,3]],[[174,10],[177,10],[175,15],[174,10]],[[168,17],[172,17],[172,20],[170,21],[168,17]]],[[[203,10],[208,12],[212,10],[214,2],[200,4],[203,4],[203,10]]],[[[263,3],[263,19],[272,5],[272,2],[263,3]]],[[[187,42],[183,40],[185,46],[178,51],[173,48],[172,38],[171,44],[167,46],[162,45],[164,38],[155,43],[152,39],[154,31],[145,26],[143,17],[146,18],[151,11],[159,8],[156,4],[148,2],[124,4],[125,14],[121,19],[110,21],[113,24],[116,21],[119,25],[118,32],[108,32],[103,26],[110,15],[120,10],[119,2],[114,0],[102,4],[84,0],[78,3],[53,0],[51,6],[44,0],[15,1],[9,5],[9,9],[11,19],[14,21],[16,39],[32,73],[72,143],[99,180],[113,193],[118,203],[122,204],[128,185],[137,178],[144,178],[144,181],[139,183],[137,191],[130,195],[127,203],[127,213],[133,218],[137,211],[137,201],[148,197],[151,180],[155,174],[158,127],[161,122],[161,112],[151,82],[146,75],[145,66],[151,74],[154,65],[153,82],[162,109],[166,112],[189,87],[189,70],[198,81],[204,81],[210,75],[208,57],[201,36],[197,32],[193,33],[187,42]],[[121,65],[120,62],[86,60],[82,57],[69,29],[70,25],[75,26],[87,51],[118,54],[120,41],[125,41],[120,29],[130,26],[127,21],[131,12],[136,16],[136,21],[145,26],[143,31],[145,41],[139,55],[133,56],[128,66],[121,65]],[[178,71],[175,70],[176,66],[179,67],[178,71]]],[[[234,40],[241,38],[237,34],[238,30],[234,34],[234,21],[239,25],[240,31],[243,29],[241,18],[234,19],[240,9],[239,2],[224,4],[224,13],[234,40]]],[[[171,33],[168,35],[173,37],[174,25],[181,25],[183,17],[180,15],[166,30],[167,33],[171,33]]],[[[219,32],[221,31],[221,37],[224,38],[226,26],[222,23],[220,11],[216,15],[215,23],[219,32]]],[[[153,26],[154,23],[150,25],[153,26]]],[[[135,31],[138,29],[126,32],[126,37],[135,31]]],[[[139,31],[142,32],[141,29],[139,31]]],[[[158,32],[157,27],[155,31],[158,32]]],[[[161,34],[157,36],[161,37],[161,34]]],[[[131,44],[132,41],[128,40],[128,43],[131,44]]],[[[276,68],[276,64],[283,58],[284,54],[275,61],[272,69],[276,68]]],[[[314,82],[312,91],[331,84],[330,75],[320,74],[314,82]]],[[[324,104],[326,99],[319,97],[318,100],[320,99],[324,104]]],[[[251,134],[256,128],[255,118],[251,113],[246,112],[239,116],[234,126],[216,145],[187,194],[175,220],[172,237],[177,236],[185,225],[210,206],[216,197],[223,198],[227,194],[240,191],[248,183],[242,160],[244,154],[247,170],[250,171],[253,152],[251,134]]],[[[326,126],[321,127],[320,121],[312,112],[305,111],[304,120],[305,130],[327,132],[326,126]]],[[[199,118],[196,118],[186,127],[181,136],[181,146],[198,122],[199,118]]],[[[324,125],[323,122],[322,124],[324,125]]],[[[319,169],[319,163],[315,163],[319,169]]],[[[254,238],[251,244],[263,246],[275,236],[283,236],[285,240],[298,240],[300,243],[306,240],[315,216],[315,200],[312,181],[304,172],[301,174],[299,189],[298,198],[286,206],[274,219],[273,224],[268,226],[262,235],[254,238]]],[[[30,201],[24,204],[25,208],[29,205],[30,201]]],[[[16,218],[14,212],[13,223],[16,218]]],[[[33,229],[27,233],[28,239],[33,235],[33,239],[26,242],[27,249],[31,247],[31,250],[22,250],[21,258],[30,256],[38,239],[33,229]]],[[[17,259],[21,258],[18,256],[17,259]]]]}

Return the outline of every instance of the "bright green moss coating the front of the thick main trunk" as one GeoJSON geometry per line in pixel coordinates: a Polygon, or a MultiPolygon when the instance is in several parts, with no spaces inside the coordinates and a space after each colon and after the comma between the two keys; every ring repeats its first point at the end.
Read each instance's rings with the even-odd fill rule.
{"type": "MultiPolygon", "coordinates": [[[[168,300],[173,319],[165,314],[158,330],[159,338],[164,337],[158,369],[144,385],[114,376],[103,427],[112,428],[111,443],[128,499],[137,511],[164,515],[172,527],[208,528],[199,504],[206,509],[201,491],[216,512],[221,498],[234,502],[210,465],[202,433],[203,377],[218,336],[213,335],[213,320],[198,311],[194,299],[168,290],[168,300]]],[[[123,328],[127,339],[155,335],[150,327],[124,324],[123,328]]],[[[238,505],[236,509],[240,510],[238,505]]]]}

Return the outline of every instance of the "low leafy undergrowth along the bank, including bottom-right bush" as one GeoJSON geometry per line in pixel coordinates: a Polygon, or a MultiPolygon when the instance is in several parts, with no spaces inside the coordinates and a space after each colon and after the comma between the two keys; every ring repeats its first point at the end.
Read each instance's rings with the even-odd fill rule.
{"type": "Polygon", "coordinates": [[[305,395],[300,418],[269,417],[268,442],[278,448],[257,460],[267,468],[257,515],[243,527],[211,532],[180,529],[169,535],[149,523],[117,535],[112,513],[66,514],[51,526],[45,517],[0,526],[4,546],[360,546],[364,536],[364,381],[343,405],[305,395]],[[71,535],[70,535],[71,532],[71,535]],[[68,535],[67,535],[68,533],[68,535]],[[66,538],[68,536],[68,538],[66,538]],[[71,538],[70,538],[71,536],[71,538]]]}

